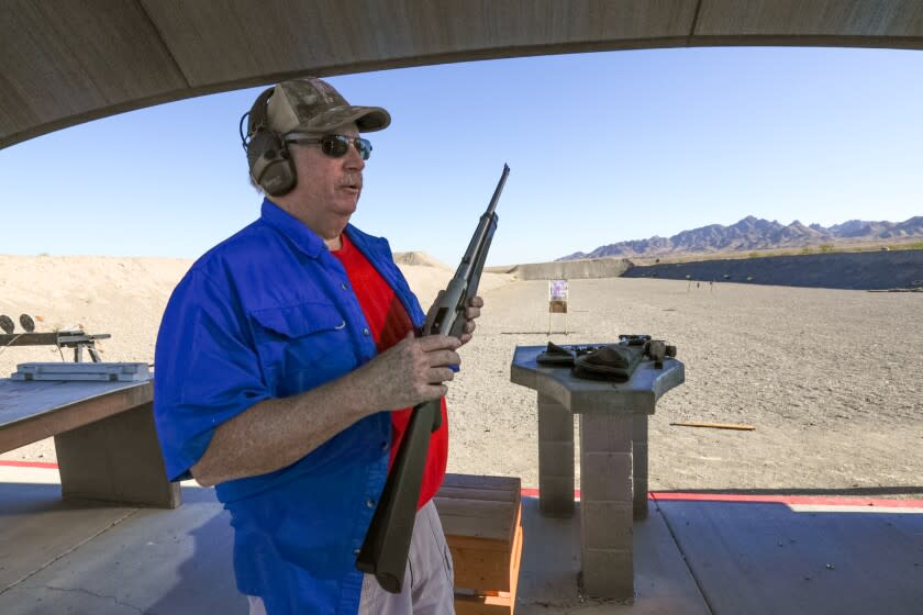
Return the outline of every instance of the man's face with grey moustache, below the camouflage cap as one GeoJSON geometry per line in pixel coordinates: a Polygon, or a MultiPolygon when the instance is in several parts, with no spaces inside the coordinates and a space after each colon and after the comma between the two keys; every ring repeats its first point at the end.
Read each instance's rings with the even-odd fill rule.
{"type": "MultiPolygon", "coordinates": [[[[355,124],[347,124],[331,134],[356,137],[359,131],[355,124]]],[[[280,204],[323,238],[340,235],[356,211],[365,160],[354,144],[340,158],[327,156],[320,145],[291,144],[289,152],[298,183],[280,204]]]]}

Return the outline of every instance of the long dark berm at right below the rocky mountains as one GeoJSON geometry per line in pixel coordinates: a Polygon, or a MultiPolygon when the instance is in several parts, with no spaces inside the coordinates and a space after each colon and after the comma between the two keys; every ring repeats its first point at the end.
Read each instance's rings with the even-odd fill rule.
{"type": "Polygon", "coordinates": [[[923,286],[923,250],[767,256],[632,267],[625,278],[667,278],[849,290],[923,286]]]}

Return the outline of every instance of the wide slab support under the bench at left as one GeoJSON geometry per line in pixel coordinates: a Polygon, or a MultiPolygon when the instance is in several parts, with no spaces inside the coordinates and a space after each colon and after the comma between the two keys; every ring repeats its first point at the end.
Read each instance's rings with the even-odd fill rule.
{"type": "Polygon", "coordinates": [[[167,480],[149,403],[58,434],[55,450],[66,499],[179,506],[179,483],[167,480]]]}

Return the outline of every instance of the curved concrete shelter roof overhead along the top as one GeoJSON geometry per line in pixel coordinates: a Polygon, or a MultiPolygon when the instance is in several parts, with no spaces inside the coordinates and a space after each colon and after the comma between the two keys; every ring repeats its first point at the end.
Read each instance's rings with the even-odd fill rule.
{"type": "Polygon", "coordinates": [[[726,45],[923,48],[923,2],[7,0],[0,147],[293,76],[726,45]]]}

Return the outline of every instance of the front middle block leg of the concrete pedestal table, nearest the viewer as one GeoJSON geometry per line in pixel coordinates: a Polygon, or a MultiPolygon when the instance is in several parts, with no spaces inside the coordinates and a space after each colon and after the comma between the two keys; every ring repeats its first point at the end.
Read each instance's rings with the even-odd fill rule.
{"type": "Polygon", "coordinates": [[[583,591],[634,597],[631,414],[580,414],[583,591]]]}

